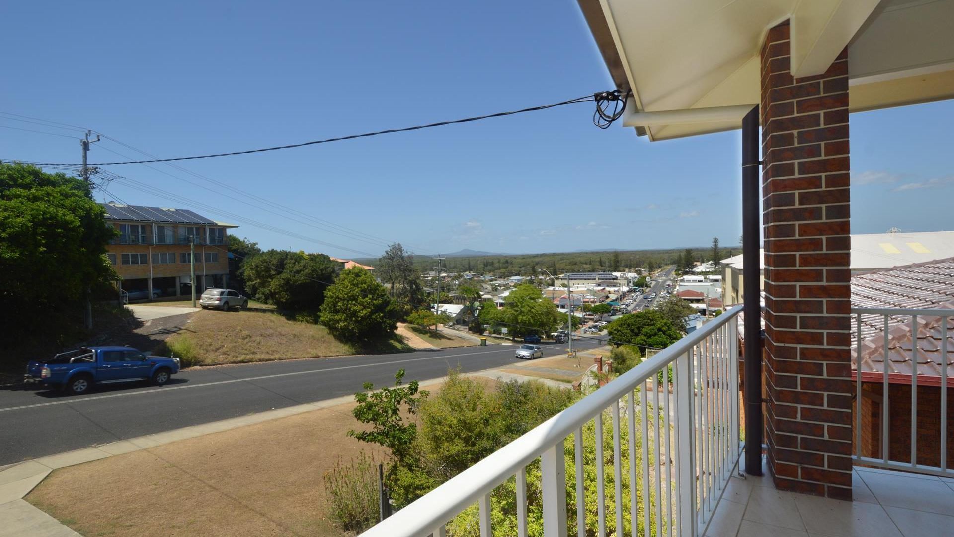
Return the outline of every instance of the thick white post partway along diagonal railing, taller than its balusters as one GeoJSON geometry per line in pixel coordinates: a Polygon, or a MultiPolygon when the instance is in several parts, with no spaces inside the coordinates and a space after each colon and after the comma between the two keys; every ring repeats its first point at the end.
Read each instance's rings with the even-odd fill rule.
{"type": "MultiPolygon", "coordinates": [[[[695,431],[693,430],[693,362],[689,354],[675,359],[675,413],[680,417],[675,424],[676,487],[678,507],[676,524],[679,535],[695,537],[695,431]]],[[[643,440],[646,441],[646,440],[643,440]]],[[[647,532],[649,528],[647,528],[647,532]]]]}

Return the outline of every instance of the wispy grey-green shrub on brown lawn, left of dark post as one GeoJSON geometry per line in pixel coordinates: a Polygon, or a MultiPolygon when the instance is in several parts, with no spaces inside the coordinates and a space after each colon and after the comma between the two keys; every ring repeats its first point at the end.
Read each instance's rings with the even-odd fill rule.
{"type": "Polygon", "coordinates": [[[337,462],[324,474],[329,516],[344,531],[362,532],[378,523],[378,464],[361,452],[350,462],[337,462]]]}

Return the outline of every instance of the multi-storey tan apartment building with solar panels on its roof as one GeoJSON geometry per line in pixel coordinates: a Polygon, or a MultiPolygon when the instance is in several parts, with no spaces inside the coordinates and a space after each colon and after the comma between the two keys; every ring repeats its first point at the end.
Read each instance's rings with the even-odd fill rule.
{"type": "Polygon", "coordinates": [[[192,294],[192,243],[196,292],[228,287],[226,229],[237,227],[188,209],[101,204],[106,221],[119,231],[107,248],[119,274],[117,287],[143,297],[192,294]]]}

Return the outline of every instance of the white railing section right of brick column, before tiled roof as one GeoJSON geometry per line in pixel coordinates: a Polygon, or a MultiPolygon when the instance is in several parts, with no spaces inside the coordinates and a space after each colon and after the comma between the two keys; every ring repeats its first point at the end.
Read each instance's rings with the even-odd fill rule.
{"type": "Polygon", "coordinates": [[[851,312],[857,363],[852,459],[865,466],[954,477],[947,441],[947,325],[954,311],[851,312]]]}

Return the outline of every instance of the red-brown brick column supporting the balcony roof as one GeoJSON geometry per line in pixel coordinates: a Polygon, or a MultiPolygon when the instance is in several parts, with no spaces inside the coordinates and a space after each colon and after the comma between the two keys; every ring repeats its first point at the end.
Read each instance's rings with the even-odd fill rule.
{"type": "Polygon", "coordinates": [[[789,27],[761,51],[765,411],[776,486],[851,499],[848,60],[789,74],[789,27]]]}

